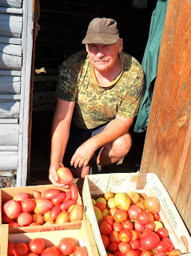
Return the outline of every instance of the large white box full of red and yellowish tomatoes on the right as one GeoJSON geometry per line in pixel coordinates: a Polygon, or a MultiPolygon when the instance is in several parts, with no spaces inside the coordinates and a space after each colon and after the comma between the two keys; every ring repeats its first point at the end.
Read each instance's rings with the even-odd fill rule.
{"type": "Polygon", "coordinates": [[[87,175],[82,202],[101,256],[175,256],[191,238],[156,174],[87,175]]]}

